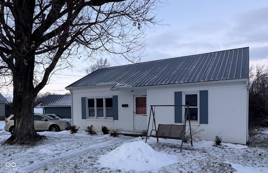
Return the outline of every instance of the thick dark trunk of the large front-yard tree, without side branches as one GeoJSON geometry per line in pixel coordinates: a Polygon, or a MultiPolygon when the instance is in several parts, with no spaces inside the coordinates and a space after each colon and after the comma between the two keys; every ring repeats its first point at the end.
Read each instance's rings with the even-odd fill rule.
{"type": "Polygon", "coordinates": [[[33,124],[33,101],[37,95],[33,86],[36,38],[31,37],[35,0],[14,0],[13,6],[16,44],[10,58],[15,60],[11,69],[15,132],[4,144],[31,144],[42,139],[33,124]]]}

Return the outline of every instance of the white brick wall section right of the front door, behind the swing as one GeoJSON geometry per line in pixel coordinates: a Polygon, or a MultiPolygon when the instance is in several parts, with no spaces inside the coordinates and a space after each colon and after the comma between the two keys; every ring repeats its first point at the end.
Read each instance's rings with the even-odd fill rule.
{"type": "MultiPolygon", "coordinates": [[[[245,83],[147,89],[147,105],[174,105],[174,92],[200,90],[208,90],[208,124],[192,122],[191,127],[204,130],[199,135],[201,139],[214,141],[215,136],[222,131],[219,134],[222,136],[222,142],[246,144],[247,88],[245,83]]],[[[155,107],[155,115],[157,126],[159,123],[175,124],[174,107],[155,107]]]]}

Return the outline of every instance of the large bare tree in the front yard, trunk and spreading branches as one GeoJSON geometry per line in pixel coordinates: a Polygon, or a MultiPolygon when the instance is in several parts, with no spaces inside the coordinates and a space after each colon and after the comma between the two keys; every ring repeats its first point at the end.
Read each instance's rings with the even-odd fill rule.
{"type": "MultiPolygon", "coordinates": [[[[42,139],[33,103],[51,75],[87,54],[139,57],[158,0],[0,0],[0,76],[13,84],[15,132],[4,144],[42,139]]],[[[161,4],[161,3],[160,3],[161,4]]],[[[130,57],[133,58],[130,58],[130,57]]]]}

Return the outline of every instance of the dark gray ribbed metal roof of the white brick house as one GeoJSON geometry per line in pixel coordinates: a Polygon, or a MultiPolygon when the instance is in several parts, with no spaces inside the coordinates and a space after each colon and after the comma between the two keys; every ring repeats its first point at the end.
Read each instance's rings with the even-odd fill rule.
{"type": "Polygon", "coordinates": [[[98,69],[66,88],[116,84],[113,88],[246,79],[249,47],[98,69]]]}

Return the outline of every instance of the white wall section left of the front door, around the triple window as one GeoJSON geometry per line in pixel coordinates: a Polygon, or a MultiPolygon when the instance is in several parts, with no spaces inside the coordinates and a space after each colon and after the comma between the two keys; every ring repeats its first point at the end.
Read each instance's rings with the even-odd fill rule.
{"type": "MultiPolygon", "coordinates": [[[[104,90],[104,89],[103,89],[104,90]]],[[[120,128],[124,131],[133,131],[133,95],[146,95],[146,90],[126,91],[92,91],[81,92],[77,89],[72,93],[73,96],[73,124],[80,126],[83,130],[89,125],[94,125],[97,131],[101,131],[101,127],[106,126],[109,129],[120,128]],[[118,95],[118,120],[109,121],[106,119],[82,119],[81,114],[81,97],[104,97],[118,95]],[[122,107],[122,104],[128,104],[128,107],[122,107]]],[[[89,91],[89,90],[87,90],[89,91]]]]}

